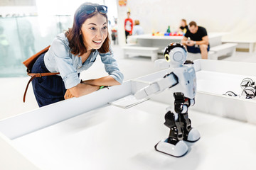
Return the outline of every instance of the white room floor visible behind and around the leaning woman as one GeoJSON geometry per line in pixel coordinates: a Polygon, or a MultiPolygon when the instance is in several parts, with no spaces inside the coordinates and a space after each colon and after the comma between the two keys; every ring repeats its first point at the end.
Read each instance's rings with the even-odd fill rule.
{"type": "MultiPolygon", "coordinates": [[[[132,57],[124,59],[121,47],[114,45],[112,46],[112,50],[114,51],[114,56],[117,59],[119,68],[124,74],[124,81],[142,77],[146,74],[159,70],[158,68],[154,68],[154,62],[151,62],[149,57],[132,57]]],[[[236,52],[235,57],[226,57],[222,58],[222,60],[234,62],[256,62],[256,53],[236,52]]],[[[107,74],[105,73],[104,65],[101,63],[100,58],[98,58],[90,69],[86,72],[82,72],[80,78],[96,79],[97,77],[105,75],[107,74]]],[[[26,88],[28,79],[29,77],[0,78],[0,119],[38,108],[36,99],[33,96],[31,84],[28,88],[26,103],[23,103],[23,92],[26,88]]]]}

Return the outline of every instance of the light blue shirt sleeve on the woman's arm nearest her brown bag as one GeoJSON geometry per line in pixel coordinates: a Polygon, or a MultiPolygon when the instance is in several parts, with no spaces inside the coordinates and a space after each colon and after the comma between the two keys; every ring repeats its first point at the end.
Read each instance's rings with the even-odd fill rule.
{"type": "Polygon", "coordinates": [[[78,72],[73,66],[73,60],[70,57],[69,47],[62,40],[55,38],[50,47],[50,55],[53,55],[56,62],[57,72],[60,72],[65,89],[70,89],[80,83],[78,72]]]}

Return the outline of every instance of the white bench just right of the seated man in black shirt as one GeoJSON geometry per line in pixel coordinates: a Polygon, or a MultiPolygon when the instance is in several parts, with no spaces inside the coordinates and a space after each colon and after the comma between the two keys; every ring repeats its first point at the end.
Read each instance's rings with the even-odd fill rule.
{"type": "Polygon", "coordinates": [[[235,48],[237,47],[237,45],[237,43],[225,43],[222,45],[210,47],[210,51],[214,52],[214,54],[210,55],[210,57],[208,58],[211,60],[218,60],[218,57],[223,55],[228,55],[232,57],[235,55],[235,48]]]}

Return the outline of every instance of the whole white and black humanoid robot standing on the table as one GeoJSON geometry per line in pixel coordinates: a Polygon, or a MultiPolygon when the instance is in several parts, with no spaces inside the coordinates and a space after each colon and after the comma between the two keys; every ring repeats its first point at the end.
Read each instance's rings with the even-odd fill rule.
{"type": "Polygon", "coordinates": [[[144,98],[158,94],[165,89],[174,93],[174,106],[166,108],[165,123],[170,128],[169,137],[156,144],[156,151],[182,157],[188,152],[188,146],[183,141],[196,142],[200,138],[198,130],[191,127],[188,118],[188,107],[193,106],[196,96],[196,72],[192,64],[186,62],[186,48],[179,43],[172,43],[164,50],[165,60],[157,60],[157,64],[172,68],[171,73],[157,79],[149,86],[137,91],[136,98],[144,98]]]}

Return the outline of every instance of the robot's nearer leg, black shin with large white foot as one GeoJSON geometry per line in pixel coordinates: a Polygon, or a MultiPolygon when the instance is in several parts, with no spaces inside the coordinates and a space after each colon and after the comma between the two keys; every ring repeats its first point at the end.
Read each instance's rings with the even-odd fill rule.
{"type": "Polygon", "coordinates": [[[175,120],[175,115],[174,113],[171,113],[171,111],[166,113],[165,119],[166,122],[164,125],[170,128],[170,134],[167,139],[158,142],[155,149],[156,151],[169,154],[174,157],[182,157],[186,152],[188,152],[188,146],[182,140],[183,132],[181,123],[175,120]]]}

